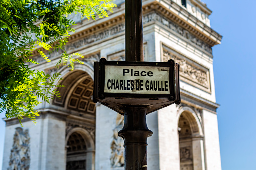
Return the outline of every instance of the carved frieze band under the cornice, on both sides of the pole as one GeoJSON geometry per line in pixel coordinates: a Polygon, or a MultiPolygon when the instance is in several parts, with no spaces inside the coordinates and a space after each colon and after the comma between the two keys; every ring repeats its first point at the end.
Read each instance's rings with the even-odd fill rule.
{"type": "MultiPolygon", "coordinates": [[[[71,36],[69,43],[65,46],[67,53],[71,54],[77,51],[81,51],[95,44],[102,43],[104,41],[108,41],[119,36],[123,36],[125,30],[124,23],[117,24],[117,21],[114,23],[116,24],[112,24],[111,27],[100,28],[97,31],[92,30],[92,32],[94,32],[93,34],[89,34],[90,30],[84,30],[84,34],[78,33],[78,36],[71,36]]],[[[182,28],[178,24],[163,17],[157,11],[151,11],[150,13],[144,14],[143,24],[145,27],[152,24],[161,26],[164,29],[167,29],[169,32],[172,32],[173,34],[176,34],[178,37],[186,40],[188,43],[193,44],[196,48],[199,48],[202,51],[207,52],[208,56],[212,56],[212,49],[209,44],[200,40],[198,37],[194,36],[192,33],[182,28]]],[[[48,57],[48,59],[53,60],[59,58],[61,54],[62,51],[54,51],[51,54],[46,53],[46,56],[48,57]]],[[[34,60],[37,63],[46,62],[39,55],[35,56],[34,60]]]]}

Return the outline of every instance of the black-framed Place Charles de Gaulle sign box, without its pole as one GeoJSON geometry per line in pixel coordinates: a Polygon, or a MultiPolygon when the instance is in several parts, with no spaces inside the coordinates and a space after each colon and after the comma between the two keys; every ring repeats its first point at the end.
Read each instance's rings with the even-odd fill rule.
{"type": "Polygon", "coordinates": [[[107,61],[94,63],[93,101],[123,114],[124,105],[147,106],[147,114],[180,104],[179,64],[107,61]]]}

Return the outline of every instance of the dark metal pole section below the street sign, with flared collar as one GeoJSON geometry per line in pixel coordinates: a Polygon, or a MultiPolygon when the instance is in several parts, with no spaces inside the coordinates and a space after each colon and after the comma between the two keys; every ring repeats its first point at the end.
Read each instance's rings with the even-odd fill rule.
{"type": "Polygon", "coordinates": [[[147,137],[153,132],[147,127],[146,109],[141,106],[124,108],[124,127],[118,136],[124,139],[125,170],[147,170],[147,137]]]}

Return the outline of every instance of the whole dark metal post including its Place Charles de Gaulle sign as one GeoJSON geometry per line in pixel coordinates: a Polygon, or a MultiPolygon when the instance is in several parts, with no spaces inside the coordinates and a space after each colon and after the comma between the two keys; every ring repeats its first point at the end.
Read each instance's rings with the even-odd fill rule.
{"type": "Polygon", "coordinates": [[[142,0],[125,1],[125,61],[94,63],[93,101],[124,115],[125,170],[147,169],[146,114],[180,104],[179,64],[143,62],[142,0]]]}

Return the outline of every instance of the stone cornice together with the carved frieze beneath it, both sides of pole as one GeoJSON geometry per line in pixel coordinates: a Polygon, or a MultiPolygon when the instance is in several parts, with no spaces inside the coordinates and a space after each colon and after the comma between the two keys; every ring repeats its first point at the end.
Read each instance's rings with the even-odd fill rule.
{"type": "MultiPolygon", "coordinates": [[[[173,4],[176,4],[176,3],[172,2],[172,5],[173,4]]],[[[123,6],[124,5],[122,5],[122,8],[124,8],[123,6]]],[[[170,5],[168,5],[168,6],[170,6],[170,5]]],[[[177,6],[179,6],[179,5],[177,5],[177,6]]],[[[206,49],[204,49],[204,50],[206,50],[210,54],[212,53],[211,46],[220,44],[222,36],[220,36],[218,33],[216,33],[210,27],[201,23],[200,27],[202,27],[202,28],[198,29],[197,27],[190,25],[187,21],[184,21],[183,19],[181,19],[179,16],[175,15],[174,12],[168,10],[166,7],[164,7],[162,4],[160,4],[157,1],[153,1],[151,3],[145,4],[142,7],[142,9],[143,9],[143,14],[144,14],[143,20],[147,18],[147,15],[148,15],[147,13],[150,13],[152,11],[160,13],[161,14],[160,18],[163,18],[162,16],[164,16],[164,18],[163,18],[163,20],[162,19],[159,20],[159,18],[158,18],[157,19],[158,22],[160,22],[162,25],[165,25],[167,27],[173,26],[172,28],[177,28],[176,30],[179,34],[182,34],[182,36],[184,36],[184,37],[187,37],[187,36],[191,37],[190,39],[192,40],[192,42],[194,41],[195,44],[197,44],[201,47],[203,46],[202,44],[205,44],[205,46],[208,46],[208,47],[206,47],[206,49]],[[167,24],[167,22],[169,22],[169,24],[167,24]],[[188,31],[186,31],[186,33],[181,33],[181,32],[184,32],[181,30],[188,30],[188,31]],[[199,41],[199,40],[201,40],[201,41],[199,41]]],[[[180,10],[184,10],[184,9],[181,8],[180,10]]],[[[185,10],[185,12],[188,13],[186,10],[185,10]]],[[[159,16],[159,14],[157,14],[157,15],[159,16]]],[[[188,13],[187,17],[190,20],[194,16],[191,16],[188,13]]],[[[201,22],[199,20],[198,21],[197,20],[194,21],[194,20],[196,20],[196,18],[193,19],[193,22],[195,22],[195,23],[201,22]]],[[[153,20],[153,21],[155,21],[155,20],[153,20]]],[[[146,23],[148,23],[148,22],[143,21],[143,24],[146,24],[146,23]]],[[[93,24],[93,23],[91,23],[91,24],[93,24]]],[[[113,38],[113,36],[115,36],[121,32],[124,32],[124,14],[121,14],[117,17],[110,18],[108,21],[103,21],[102,23],[94,24],[92,27],[88,27],[87,29],[85,29],[83,31],[80,31],[78,33],[71,35],[69,37],[69,44],[66,45],[66,50],[69,51],[69,53],[71,53],[81,46],[92,44],[99,40],[107,39],[110,37],[113,38]]],[[[62,54],[62,51],[59,50],[59,51],[54,51],[51,54],[48,53],[48,54],[46,54],[46,56],[48,57],[48,59],[53,59],[53,58],[56,58],[57,56],[60,56],[61,54],[62,54]]],[[[40,57],[40,55],[38,54],[37,51],[33,52],[33,56],[35,56],[33,58],[36,59],[36,61],[38,63],[41,63],[44,61],[44,59],[42,57],[40,57]]],[[[31,65],[30,63],[28,63],[28,64],[31,65]]]]}

